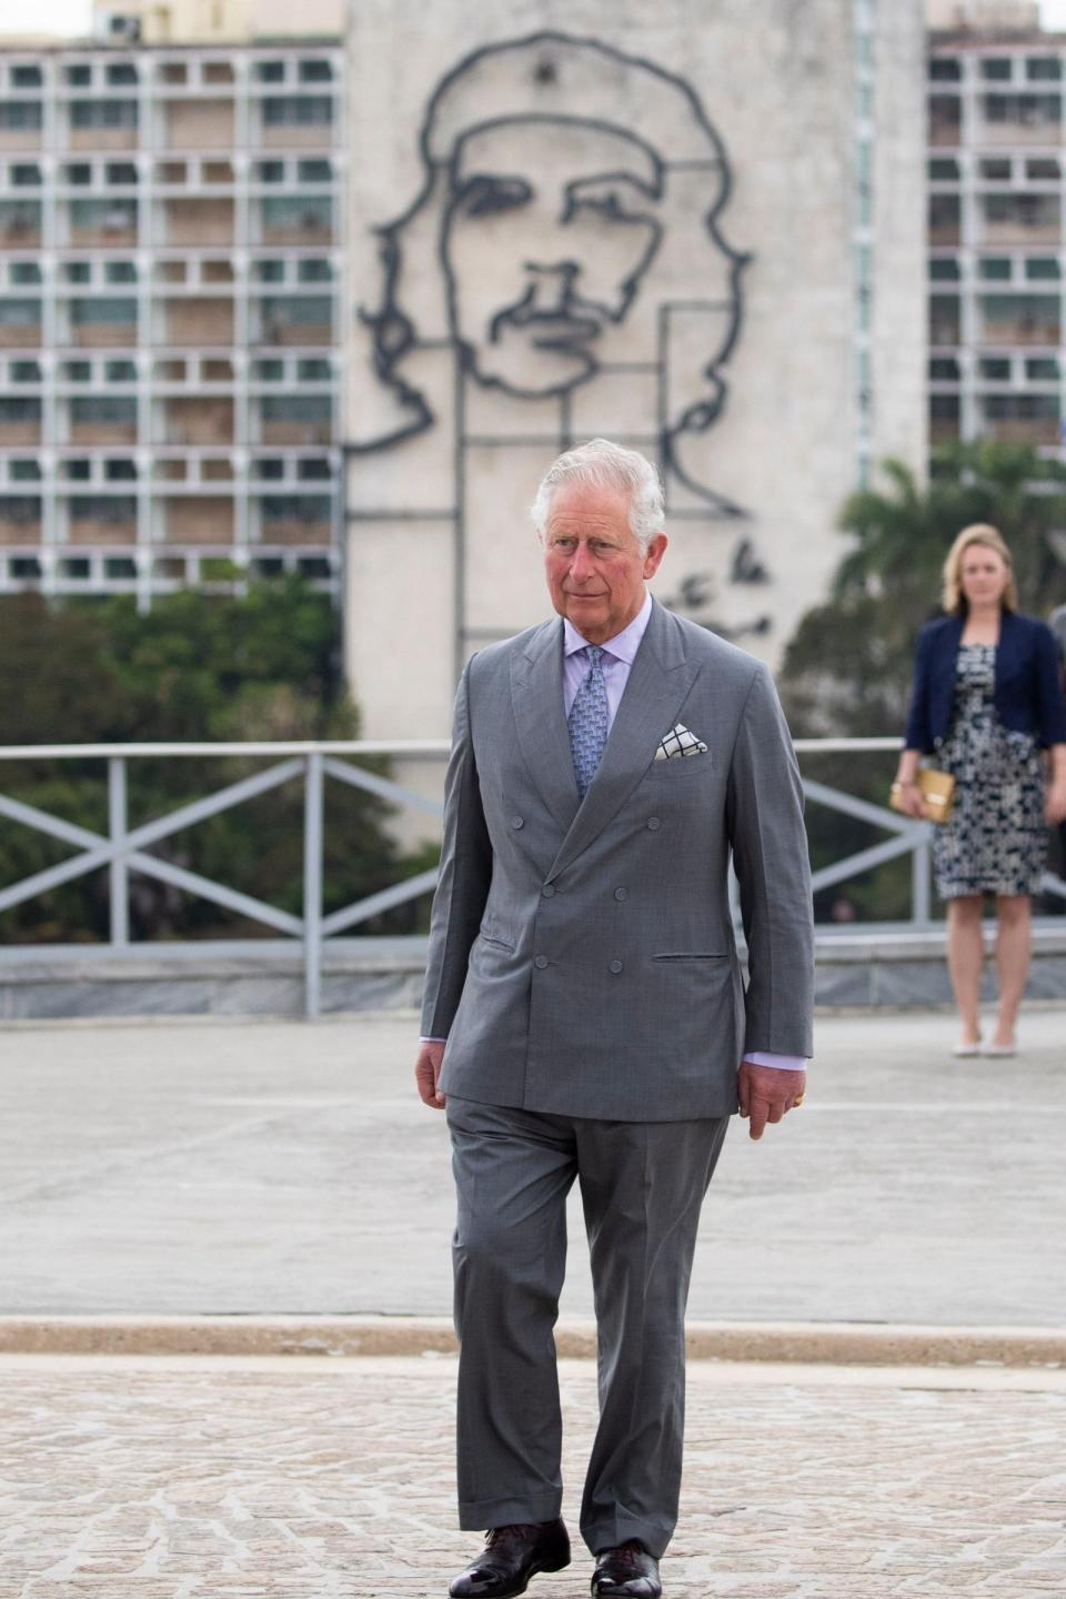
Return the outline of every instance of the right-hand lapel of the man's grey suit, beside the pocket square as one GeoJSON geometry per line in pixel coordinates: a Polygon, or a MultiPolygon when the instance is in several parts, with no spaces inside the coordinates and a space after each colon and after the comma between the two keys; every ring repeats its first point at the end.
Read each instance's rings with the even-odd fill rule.
{"type": "MultiPolygon", "coordinates": [[[[678,712],[698,670],[698,665],[687,659],[684,635],[674,617],[657,601],[652,601],[647,630],[630,668],[630,678],[599,769],[583,804],[572,815],[572,825],[559,846],[559,854],[548,873],[550,878],[564,871],[625,804],[654,761],[658,740],[678,720],[678,712]]],[[[561,696],[559,683],[559,704],[561,696]]],[[[561,721],[561,726],[571,784],[574,798],[577,798],[566,721],[561,721]]]]}

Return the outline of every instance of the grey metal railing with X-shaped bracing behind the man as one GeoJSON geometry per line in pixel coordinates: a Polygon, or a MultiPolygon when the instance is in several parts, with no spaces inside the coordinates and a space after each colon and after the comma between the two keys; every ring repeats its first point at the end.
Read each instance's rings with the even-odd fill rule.
{"type": "MultiPolygon", "coordinates": [[[[900,748],[898,739],[798,739],[796,753],[805,755],[857,755],[895,752],[900,748]]],[[[294,945],[302,947],[304,955],[304,990],[305,1014],[315,1017],[320,1012],[323,947],[324,942],[380,913],[404,905],[432,891],[436,884],[436,870],[420,871],[416,876],[403,878],[377,894],[323,913],[323,795],[326,779],[348,784],[366,793],[387,800],[398,807],[411,807],[427,812],[440,820],[443,804],[436,798],[427,798],[392,777],[382,777],[364,766],[353,764],[371,756],[385,756],[390,763],[403,761],[438,761],[447,760],[449,744],[446,739],[408,739],[408,740],[307,740],[307,742],[238,742],[238,744],[59,744],[59,745],[8,745],[0,747],[0,761],[40,763],[40,761],[104,761],[107,769],[107,831],[96,831],[88,827],[64,820],[38,806],[26,804],[13,795],[0,792],[0,815],[11,822],[34,828],[48,838],[70,844],[77,854],[43,871],[35,871],[19,883],[11,883],[0,889],[0,916],[3,911],[27,900],[34,900],[64,883],[70,883],[89,871],[107,868],[109,873],[109,945],[115,951],[128,950],[129,939],[129,878],[142,873],[157,881],[168,883],[187,894],[200,895],[214,905],[235,911],[261,923],[265,927],[286,935],[294,945]],[[131,761],[169,761],[189,758],[259,758],[270,764],[249,777],[229,782],[225,787],[195,800],[179,804],[166,815],[155,817],[139,827],[129,827],[128,815],[128,768],[131,761]],[[296,916],[262,899],[241,894],[198,871],[190,871],[171,860],[152,854],[153,844],[174,833],[193,827],[208,817],[219,815],[233,806],[243,804],[283,784],[300,782],[304,790],[304,897],[302,916],[296,916]]],[[[0,782],[0,788],[3,784],[0,782]]],[[[930,926],[930,876],[932,876],[932,823],[914,822],[909,817],[890,811],[887,806],[861,800],[841,788],[804,777],[807,800],[818,806],[828,806],[841,815],[868,822],[884,830],[890,836],[882,843],[860,849],[839,860],[833,860],[815,870],[813,891],[833,887],[885,865],[903,855],[911,857],[911,915],[905,921],[879,923],[879,927],[924,929],[930,926]]],[[[1045,873],[1044,889],[1066,899],[1066,883],[1052,871],[1045,873]]],[[[857,931],[865,931],[868,924],[860,924],[857,931]]],[[[847,929],[839,929],[845,932],[847,929]]],[[[2,945],[0,945],[2,959],[2,945]]]]}

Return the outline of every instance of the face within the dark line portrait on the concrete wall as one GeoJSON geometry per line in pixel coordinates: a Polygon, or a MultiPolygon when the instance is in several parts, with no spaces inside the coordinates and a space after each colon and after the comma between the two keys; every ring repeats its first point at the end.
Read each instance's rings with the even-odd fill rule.
{"type": "Polygon", "coordinates": [[[519,118],[468,133],[451,184],[449,313],[470,369],[527,397],[583,382],[658,248],[657,160],[625,133],[519,118]]]}

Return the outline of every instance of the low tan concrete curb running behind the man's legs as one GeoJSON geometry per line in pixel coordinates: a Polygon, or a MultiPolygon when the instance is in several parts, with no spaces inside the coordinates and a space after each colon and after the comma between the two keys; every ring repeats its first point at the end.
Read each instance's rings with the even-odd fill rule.
{"type": "MultiPolygon", "coordinates": [[[[591,1321],[556,1327],[559,1354],[596,1354],[591,1321]]],[[[833,1366],[1066,1367],[1066,1329],[861,1322],[690,1322],[697,1361],[833,1366]]],[[[432,1316],[0,1316],[0,1354],[424,1354],[455,1353],[432,1316]]]]}

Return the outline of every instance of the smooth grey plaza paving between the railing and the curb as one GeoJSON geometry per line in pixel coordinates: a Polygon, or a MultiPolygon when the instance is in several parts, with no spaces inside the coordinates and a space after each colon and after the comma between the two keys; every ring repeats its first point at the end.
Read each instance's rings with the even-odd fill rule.
{"type": "MultiPolygon", "coordinates": [[[[0,1313],[447,1316],[444,1118],[408,1015],[0,1030],[0,1313]]],[[[1066,1009],[820,1019],[807,1103],[726,1140],[690,1314],[1066,1327],[1066,1009]]],[[[591,1294],[577,1196],[563,1314],[591,1294]]]]}

